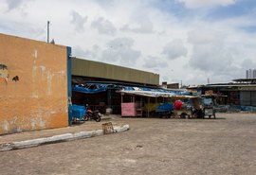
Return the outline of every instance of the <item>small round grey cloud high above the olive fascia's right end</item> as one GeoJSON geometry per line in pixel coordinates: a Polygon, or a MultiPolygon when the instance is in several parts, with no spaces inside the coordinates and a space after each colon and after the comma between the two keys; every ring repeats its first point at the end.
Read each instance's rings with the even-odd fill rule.
{"type": "Polygon", "coordinates": [[[187,48],[180,39],[175,39],[169,44],[166,44],[162,51],[162,54],[166,55],[169,60],[174,60],[182,56],[185,57],[187,53],[187,48]]]}

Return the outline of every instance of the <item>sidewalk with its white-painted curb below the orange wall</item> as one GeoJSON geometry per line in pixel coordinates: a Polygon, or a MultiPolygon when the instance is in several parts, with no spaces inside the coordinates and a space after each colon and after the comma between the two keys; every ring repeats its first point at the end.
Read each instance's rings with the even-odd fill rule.
{"type": "Polygon", "coordinates": [[[115,123],[115,117],[119,115],[104,115],[101,122],[86,121],[76,122],[71,127],[42,130],[42,131],[26,131],[13,134],[0,135],[0,151],[12,149],[26,149],[37,147],[40,145],[53,144],[58,142],[66,142],[82,138],[103,135],[102,124],[111,122],[113,130],[110,133],[119,131],[128,131],[129,125],[124,123],[115,123]]]}

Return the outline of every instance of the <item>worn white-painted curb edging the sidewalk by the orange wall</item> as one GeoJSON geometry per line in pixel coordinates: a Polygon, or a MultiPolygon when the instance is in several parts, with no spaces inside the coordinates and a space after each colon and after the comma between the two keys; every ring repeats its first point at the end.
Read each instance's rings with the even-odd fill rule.
{"type": "MultiPolygon", "coordinates": [[[[121,127],[114,127],[114,131],[112,131],[111,133],[128,131],[129,129],[130,129],[129,125],[126,124],[121,127]]],[[[100,136],[103,134],[104,134],[103,130],[79,131],[75,133],[64,133],[61,135],[54,135],[51,137],[37,138],[37,139],[20,141],[20,142],[4,143],[4,144],[0,144],[0,152],[14,150],[14,149],[27,149],[32,147],[38,147],[41,145],[46,145],[46,144],[54,144],[54,143],[78,140],[82,138],[100,136]]]]}

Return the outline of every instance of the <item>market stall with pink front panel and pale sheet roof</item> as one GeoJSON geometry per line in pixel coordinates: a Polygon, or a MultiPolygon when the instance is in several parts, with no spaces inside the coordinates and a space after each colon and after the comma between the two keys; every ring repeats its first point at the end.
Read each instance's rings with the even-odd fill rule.
{"type": "Polygon", "coordinates": [[[154,116],[173,110],[172,96],[185,96],[185,90],[165,90],[129,87],[119,90],[122,116],[154,116]],[[169,105],[168,105],[169,103],[169,105]],[[166,109],[168,107],[168,109],[166,109]],[[164,109],[165,108],[165,109],[164,109]]]}

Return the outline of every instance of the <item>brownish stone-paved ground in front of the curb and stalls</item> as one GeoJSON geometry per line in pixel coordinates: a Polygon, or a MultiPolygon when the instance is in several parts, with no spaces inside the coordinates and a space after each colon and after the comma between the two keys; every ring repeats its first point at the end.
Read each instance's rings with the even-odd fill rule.
{"type": "Polygon", "coordinates": [[[118,118],[130,131],[0,152],[0,174],[256,174],[256,114],[118,118]]]}

